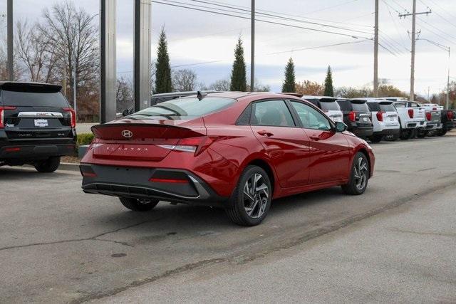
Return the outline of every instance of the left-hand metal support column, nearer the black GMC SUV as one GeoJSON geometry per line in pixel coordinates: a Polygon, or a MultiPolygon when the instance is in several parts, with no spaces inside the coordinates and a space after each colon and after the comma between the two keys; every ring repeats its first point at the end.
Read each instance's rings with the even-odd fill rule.
{"type": "Polygon", "coordinates": [[[100,122],[115,120],[115,19],[116,0],[100,0],[100,122]]]}

